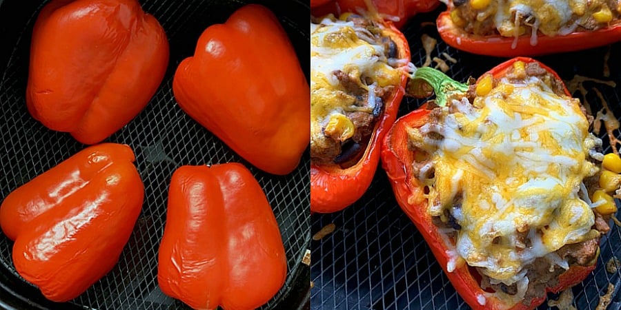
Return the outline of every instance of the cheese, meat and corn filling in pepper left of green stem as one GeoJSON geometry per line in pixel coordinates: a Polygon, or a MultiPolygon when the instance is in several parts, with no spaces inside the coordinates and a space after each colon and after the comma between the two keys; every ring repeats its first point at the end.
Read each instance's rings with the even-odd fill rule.
{"type": "Polygon", "coordinates": [[[311,21],[311,158],[355,164],[409,59],[382,23],[355,14],[311,21]]]}

